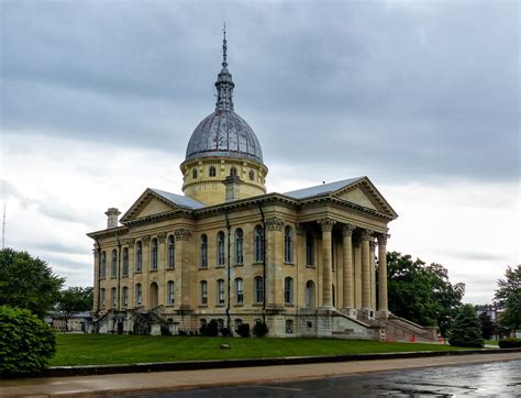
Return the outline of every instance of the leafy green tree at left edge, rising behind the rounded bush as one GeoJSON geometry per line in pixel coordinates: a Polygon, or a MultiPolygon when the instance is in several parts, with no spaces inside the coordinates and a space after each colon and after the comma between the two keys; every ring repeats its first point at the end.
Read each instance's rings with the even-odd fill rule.
{"type": "Polygon", "coordinates": [[[26,308],[40,318],[53,307],[65,279],[26,252],[0,251],[0,306],[26,308]]]}

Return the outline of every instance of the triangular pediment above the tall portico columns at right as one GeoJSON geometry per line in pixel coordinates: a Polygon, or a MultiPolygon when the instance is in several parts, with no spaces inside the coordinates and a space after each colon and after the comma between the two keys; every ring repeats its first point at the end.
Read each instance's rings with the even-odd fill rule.
{"type": "Polygon", "coordinates": [[[384,196],[367,177],[336,190],[332,196],[336,199],[385,213],[392,217],[392,219],[398,217],[398,213],[390,207],[384,196]]]}

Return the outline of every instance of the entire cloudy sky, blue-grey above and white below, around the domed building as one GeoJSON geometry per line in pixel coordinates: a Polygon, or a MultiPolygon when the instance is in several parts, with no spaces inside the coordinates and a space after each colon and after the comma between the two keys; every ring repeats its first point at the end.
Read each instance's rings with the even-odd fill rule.
{"type": "Polygon", "coordinates": [[[5,246],[92,285],[87,232],[179,164],[214,109],[226,23],[235,111],[268,191],[368,176],[388,250],[488,303],[521,263],[517,1],[0,1],[5,246]]]}

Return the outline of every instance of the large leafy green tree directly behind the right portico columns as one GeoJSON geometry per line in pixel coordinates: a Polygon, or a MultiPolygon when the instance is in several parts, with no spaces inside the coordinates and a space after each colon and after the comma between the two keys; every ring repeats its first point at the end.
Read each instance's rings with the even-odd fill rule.
{"type": "Polygon", "coordinates": [[[439,325],[446,335],[462,305],[464,284],[451,284],[441,264],[424,262],[398,252],[387,253],[389,310],[422,325],[439,325]]]}

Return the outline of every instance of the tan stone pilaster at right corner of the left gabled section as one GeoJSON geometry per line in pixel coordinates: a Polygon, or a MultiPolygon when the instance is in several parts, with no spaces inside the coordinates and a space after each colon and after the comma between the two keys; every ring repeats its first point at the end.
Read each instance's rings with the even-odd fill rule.
{"type": "MultiPolygon", "coordinates": [[[[174,231],[174,236],[176,237],[176,268],[180,269],[180,280],[176,281],[176,286],[181,289],[181,302],[180,309],[187,310],[190,309],[190,287],[193,294],[193,285],[190,280],[190,266],[193,263],[193,258],[199,261],[199,252],[198,248],[196,250],[197,255],[193,258],[190,258],[190,237],[191,231],[180,228],[174,231]],[[190,286],[192,285],[192,286],[190,286]]],[[[199,286],[197,286],[199,288],[199,286]]],[[[200,294],[196,290],[196,295],[193,297],[197,298],[197,302],[199,302],[200,294]]]]}

